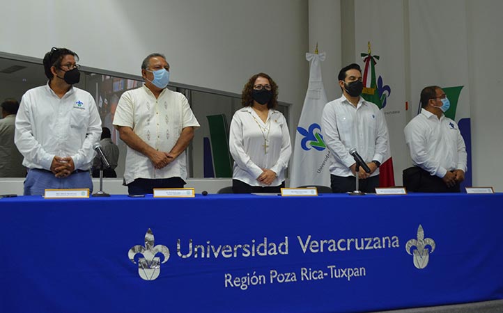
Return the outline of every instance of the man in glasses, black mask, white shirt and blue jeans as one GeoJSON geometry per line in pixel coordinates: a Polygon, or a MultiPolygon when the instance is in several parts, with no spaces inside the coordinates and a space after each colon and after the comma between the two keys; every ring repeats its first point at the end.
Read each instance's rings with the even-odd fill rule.
{"type": "Polygon", "coordinates": [[[49,81],[22,97],[15,144],[29,168],[24,195],[43,195],[49,188],[93,190],[89,168],[101,120],[91,94],[72,86],[80,79],[77,60],[69,49],[52,48],[43,61],[49,81]]]}

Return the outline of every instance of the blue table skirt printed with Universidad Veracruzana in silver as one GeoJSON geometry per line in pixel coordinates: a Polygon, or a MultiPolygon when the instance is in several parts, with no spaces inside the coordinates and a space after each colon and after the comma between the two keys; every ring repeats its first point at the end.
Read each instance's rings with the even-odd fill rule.
{"type": "Polygon", "coordinates": [[[503,194],[33,196],[1,199],[0,214],[0,312],[368,312],[503,298],[503,194]]]}

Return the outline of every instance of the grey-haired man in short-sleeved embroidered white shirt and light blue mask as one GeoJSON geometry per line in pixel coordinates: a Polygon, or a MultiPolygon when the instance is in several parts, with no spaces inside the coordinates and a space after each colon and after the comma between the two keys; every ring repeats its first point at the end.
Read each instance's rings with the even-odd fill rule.
{"type": "Polygon", "coordinates": [[[185,149],[199,127],[187,98],[167,88],[164,55],[148,55],[141,76],[144,86],[123,93],[113,122],[127,144],[124,180],[130,195],[182,188],[187,179],[185,149]]]}

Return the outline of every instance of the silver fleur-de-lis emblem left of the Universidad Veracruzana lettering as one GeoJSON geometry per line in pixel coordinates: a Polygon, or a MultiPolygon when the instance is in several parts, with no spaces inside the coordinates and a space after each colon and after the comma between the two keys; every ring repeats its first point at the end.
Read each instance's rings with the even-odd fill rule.
{"type": "Polygon", "coordinates": [[[161,272],[161,264],[169,259],[169,249],[167,246],[154,246],[154,234],[150,228],[145,234],[145,246],[134,246],[127,256],[131,262],[138,264],[138,273],[144,280],[155,280],[161,272]],[[137,255],[143,256],[134,259],[137,255]],[[161,256],[163,257],[161,261],[161,256]]]}

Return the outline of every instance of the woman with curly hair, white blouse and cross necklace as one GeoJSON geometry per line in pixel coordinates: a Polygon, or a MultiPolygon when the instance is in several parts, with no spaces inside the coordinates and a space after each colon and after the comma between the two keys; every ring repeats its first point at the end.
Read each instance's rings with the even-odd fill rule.
{"type": "Polygon", "coordinates": [[[286,119],[277,106],[278,86],[268,74],[252,76],[231,122],[234,193],[279,193],[292,154],[286,119]]]}

